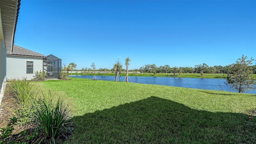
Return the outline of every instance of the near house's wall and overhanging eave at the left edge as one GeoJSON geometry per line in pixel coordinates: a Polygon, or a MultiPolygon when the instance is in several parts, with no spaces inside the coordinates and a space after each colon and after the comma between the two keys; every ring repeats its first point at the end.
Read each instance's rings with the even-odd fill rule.
{"type": "Polygon", "coordinates": [[[6,54],[12,52],[20,0],[0,0],[0,104],[6,87],[6,54]]]}

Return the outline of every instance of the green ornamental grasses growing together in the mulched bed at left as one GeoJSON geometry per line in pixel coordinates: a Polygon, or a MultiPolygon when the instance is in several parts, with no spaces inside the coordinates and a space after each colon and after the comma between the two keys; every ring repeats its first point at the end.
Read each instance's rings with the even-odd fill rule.
{"type": "MultiPolygon", "coordinates": [[[[39,85],[23,79],[13,79],[9,83],[15,98],[15,109],[9,108],[17,117],[18,129],[31,126],[35,132],[22,131],[22,137],[16,138],[16,132],[10,131],[8,142],[26,143],[58,143],[68,139],[72,134],[74,124],[70,119],[71,113],[65,96],[60,93],[52,94],[50,90],[40,89],[39,85]],[[12,138],[14,136],[14,138],[12,138]],[[31,141],[33,138],[33,141],[31,141]]],[[[14,128],[15,129],[15,128],[14,128]]],[[[2,136],[2,134],[0,133],[2,136]]],[[[2,139],[1,139],[2,140],[2,139]]],[[[22,143],[23,144],[23,143],[22,143]]]]}

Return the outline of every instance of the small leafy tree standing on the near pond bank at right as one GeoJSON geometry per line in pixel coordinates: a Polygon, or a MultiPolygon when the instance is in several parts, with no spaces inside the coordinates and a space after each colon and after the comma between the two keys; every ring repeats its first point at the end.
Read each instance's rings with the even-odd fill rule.
{"type": "Polygon", "coordinates": [[[245,92],[254,90],[256,87],[256,78],[252,75],[252,61],[254,59],[246,60],[247,56],[238,58],[236,63],[230,65],[230,73],[227,76],[227,83],[230,84],[232,90],[238,90],[238,92],[245,92]]]}

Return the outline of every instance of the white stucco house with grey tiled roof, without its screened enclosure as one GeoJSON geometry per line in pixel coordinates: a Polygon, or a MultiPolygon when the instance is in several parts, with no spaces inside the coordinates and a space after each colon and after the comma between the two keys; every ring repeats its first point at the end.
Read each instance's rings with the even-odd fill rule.
{"type": "Polygon", "coordinates": [[[14,45],[11,54],[6,54],[6,78],[31,80],[34,72],[43,71],[46,56],[14,45]]]}

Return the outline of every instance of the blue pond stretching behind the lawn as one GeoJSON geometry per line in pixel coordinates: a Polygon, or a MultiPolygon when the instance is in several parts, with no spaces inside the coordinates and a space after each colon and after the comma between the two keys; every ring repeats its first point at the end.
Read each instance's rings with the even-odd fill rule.
{"type": "MultiPolygon", "coordinates": [[[[93,79],[91,75],[73,75],[73,78],[88,78],[93,79]]],[[[96,76],[97,80],[110,80],[114,81],[115,76],[96,76]]],[[[119,81],[124,81],[125,76],[120,76],[119,81]]],[[[140,84],[158,84],[164,86],[177,86],[184,88],[196,88],[204,90],[224,90],[229,92],[237,92],[231,90],[230,86],[224,84],[226,79],[214,79],[214,78],[180,78],[180,77],[151,77],[151,76],[129,76],[129,82],[140,84]],[[220,88],[220,86],[222,89],[220,88]]],[[[126,80],[125,80],[126,81],[126,80]]],[[[256,90],[245,92],[250,94],[256,94],[256,90]]]]}

